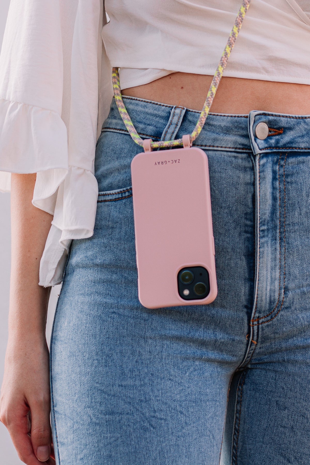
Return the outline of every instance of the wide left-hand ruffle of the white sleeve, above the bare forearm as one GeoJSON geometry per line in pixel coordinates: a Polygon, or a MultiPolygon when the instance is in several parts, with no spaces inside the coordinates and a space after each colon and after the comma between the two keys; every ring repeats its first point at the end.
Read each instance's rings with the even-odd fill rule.
{"type": "Polygon", "coordinates": [[[67,169],[67,130],[60,115],[0,98],[0,190],[10,189],[10,173],[49,171],[60,184],[67,169]]]}

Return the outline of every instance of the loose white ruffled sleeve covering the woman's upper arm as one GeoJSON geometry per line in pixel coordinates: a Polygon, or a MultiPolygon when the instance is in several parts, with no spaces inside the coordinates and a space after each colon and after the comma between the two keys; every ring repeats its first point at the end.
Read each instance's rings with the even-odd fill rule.
{"type": "Polygon", "coordinates": [[[0,55],[0,189],[37,173],[33,205],[53,214],[40,285],[62,281],[72,239],[92,236],[95,145],[113,89],[99,0],[11,0],[0,55]]]}

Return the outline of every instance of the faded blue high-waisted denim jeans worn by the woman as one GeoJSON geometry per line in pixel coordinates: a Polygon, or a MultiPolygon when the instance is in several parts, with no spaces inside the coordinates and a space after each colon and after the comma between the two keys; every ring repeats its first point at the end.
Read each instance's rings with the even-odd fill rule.
{"type": "MultiPolygon", "coordinates": [[[[124,101],[143,138],[198,120],[124,101]]],[[[112,100],[94,235],[72,243],[53,326],[57,464],[310,464],[310,117],[210,114],[194,145],[209,159],[218,297],[149,310],[130,172],[142,150],[112,100]]]]}

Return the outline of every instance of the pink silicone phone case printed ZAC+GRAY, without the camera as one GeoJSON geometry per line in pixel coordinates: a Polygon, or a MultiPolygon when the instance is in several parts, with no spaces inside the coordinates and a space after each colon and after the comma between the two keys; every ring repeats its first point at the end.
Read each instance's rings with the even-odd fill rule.
{"type": "Polygon", "coordinates": [[[217,296],[208,159],[188,147],[139,153],[132,159],[139,300],[147,308],[209,304],[217,296]],[[204,266],[204,299],[178,294],[178,272],[204,266]]]}

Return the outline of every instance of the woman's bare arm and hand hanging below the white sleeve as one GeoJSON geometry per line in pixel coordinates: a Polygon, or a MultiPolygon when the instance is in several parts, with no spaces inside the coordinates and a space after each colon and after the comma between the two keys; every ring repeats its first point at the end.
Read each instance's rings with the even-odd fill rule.
{"type": "Polygon", "coordinates": [[[50,288],[38,283],[53,216],[32,205],[35,179],[36,174],[12,174],[9,338],[0,397],[0,420],[27,465],[47,460],[52,442],[45,337],[50,288]]]}

